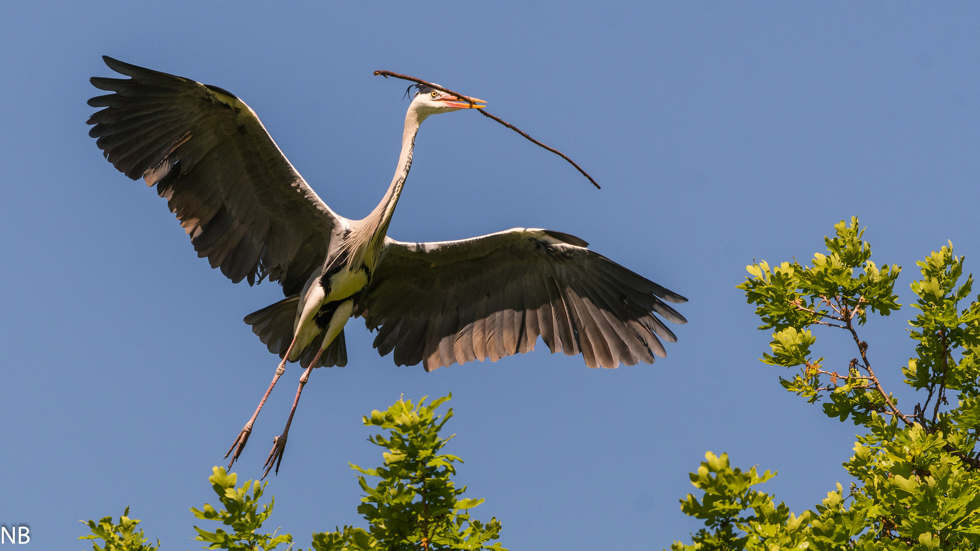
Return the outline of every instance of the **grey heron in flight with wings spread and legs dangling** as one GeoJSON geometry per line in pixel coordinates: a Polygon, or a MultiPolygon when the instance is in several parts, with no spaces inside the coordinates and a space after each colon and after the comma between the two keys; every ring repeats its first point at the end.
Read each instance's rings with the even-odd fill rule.
{"type": "Polygon", "coordinates": [[[245,323],[282,361],[228,454],[231,465],[287,362],[304,368],[289,419],[264,467],[282,462],[289,426],[314,368],[344,366],[344,326],[362,317],[374,348],[426,372],[534,350],[581,354],[590,368],[652,364],[674,333],[658,316],[686,320],[667,302],[684,297],[589,250],[561,231],[515,227],[459,241],[387,236],[426,118],[482,107],[417,85],[405,116],[395,175],[363,220],[330,210],[272,141],[255,112],[210,84],[104,56],[129,78],[91,78],[111,93],[89,135],[124,175],[167,199],[199,257],[237,283],[278,281],[286,298],[245,323]]]}

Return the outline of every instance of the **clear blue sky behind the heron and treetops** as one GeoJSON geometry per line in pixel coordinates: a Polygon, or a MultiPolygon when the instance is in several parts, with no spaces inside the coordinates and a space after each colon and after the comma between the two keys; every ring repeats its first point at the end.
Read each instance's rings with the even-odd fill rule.
{"type": "MultiPolygon", "coordinates": [[[[311,377],[270,529],[364,526],[347,462],[376,466],[361,417],[452,391],[458,480],[511,549],[662,549],[697,523],[678,499],[704,453],[777,470],[797,512],[834,482],[855,426],[782,389],[735,288],[753,258],[809,259],[858,215],[879,264],[952,239],[977,266],[980,7],[945,2],[7,2],[0,9],[0,524],[85,549],[78,519],[127,504],[164,549],[197,549],[188,507],[277,359],[241,319],[281,298],[231,284],[163,199],[87,136],[100,56],[246,101],[339,214],[361,218],[398,157],[417,75],[489,102],[604,185],[473,112],[432,118],[389,234],[514,226],[578,235],[690,298],[654,366],[589,370],[527,354],[396,367],[348,326],[350,363],[311,377]]],[[[865,330],[900,401],[907,308],[865,330]]],[[[816,349],[844,367],[844,335],[816,349]]],[[[539,346],[539,349],[544,348],[539,346]]],[[[836,364],[835,364],[836,362],[836,364]]],[[[300,371],[290,366],[235,471],[261,475],[300,371]]]]}

